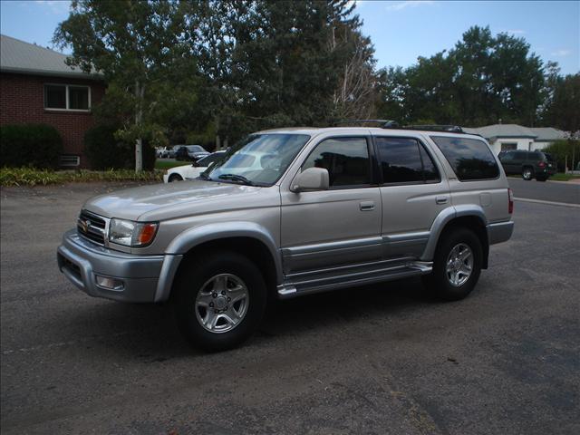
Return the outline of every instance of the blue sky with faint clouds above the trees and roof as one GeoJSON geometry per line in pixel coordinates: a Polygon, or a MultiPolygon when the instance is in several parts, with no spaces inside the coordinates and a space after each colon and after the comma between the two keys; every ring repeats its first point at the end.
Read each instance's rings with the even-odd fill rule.
{"type": "MultiPolygon", "coordinates": [[[[524,37],[544,62],[580,72],[580,1],[356,0],[362,33],[371,36],[379,67],[410,66],[418,56],[452,48],[472,25],[524,37]]],[[[0,33],[52,47],[69,10],[66,0],[0,0],[0,33]]]]}

